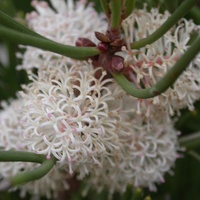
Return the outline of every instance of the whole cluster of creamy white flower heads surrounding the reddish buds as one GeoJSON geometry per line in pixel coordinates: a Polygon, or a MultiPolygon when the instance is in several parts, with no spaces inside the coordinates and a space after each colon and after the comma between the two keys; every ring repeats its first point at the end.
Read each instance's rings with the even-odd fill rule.
{"type": "MultiPolygon", "coordinates": [[[[41,35],[74,45],[80,36],[95,41],[94,31],[106,31],[104,17],[85,1],[50,2],[52,7],[33,1],[36,12],[27,15],[29,26],[41,35]]],[[[157,9],[135,10],[123,23],[127,41],[146,37],[168,16],[157,9]]],[[[192,31],[199,27],[182,19],[178,27],[139,51],[123,48],[125,64],[132,69],[129,78],[138,88],[155,84],[188,48],[192,31]]],[[[110,194],[124,192],[128,184],[155,190],[178,156],[178,132],[170,115],[186,106],[192,109],[199,99],[200,57],[173,88],[141,100],[127,95],[90,60],[25,48],[19,68],[27,70],[32,82],[23,85],[19,100],[0,113],[0,148],[54,156],[58,163],[46,177],[20,186],[22,193],[55,197],[58,190],[68,188],[68,176],[87,177],[87,187],[107,188],[110,194]]],[[[35,166],[0,163],[0,175],[5,179],[35,166]]]]}

